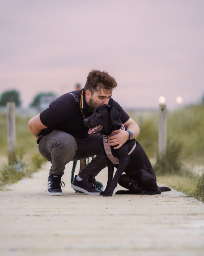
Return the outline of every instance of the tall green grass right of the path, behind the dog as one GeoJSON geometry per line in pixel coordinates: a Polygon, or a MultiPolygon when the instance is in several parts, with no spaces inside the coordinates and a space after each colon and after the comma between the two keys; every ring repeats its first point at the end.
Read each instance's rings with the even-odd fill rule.
{"type": "MultiPolygon", "coordinates": [[[[168,108],[168,106],[167,106],[168,108]]],[[[154,165],[157,181],[204,202],[204,173],[197,178],[186,166],[204,164],[204,104],[167,112],[167,154],[158,159],[158,113],[131,116],[140,123],[137,140],[154,165]],[[196,184],[196,185],[195,185],[196,184]]]]}

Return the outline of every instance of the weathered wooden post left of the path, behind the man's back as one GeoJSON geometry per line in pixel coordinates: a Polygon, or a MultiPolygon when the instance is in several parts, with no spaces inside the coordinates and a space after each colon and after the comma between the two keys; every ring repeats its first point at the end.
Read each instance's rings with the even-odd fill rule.
{"type": "Polygon", "coordinates": [[[16,123],[15,123],[15,103],[7,102],[7,131],[8,131],[8,153],[9,165],[16,162],[16,123]]]}

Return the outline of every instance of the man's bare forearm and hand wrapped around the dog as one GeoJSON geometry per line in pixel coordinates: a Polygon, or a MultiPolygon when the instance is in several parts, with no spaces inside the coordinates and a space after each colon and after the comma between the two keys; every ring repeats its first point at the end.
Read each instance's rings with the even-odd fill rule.
{"type": "MultiPolygon", "coordinates": [[[[140,133],[140,128],[131,117],[129,120],[127,120],[127,122],[124,123],[124,126],[127,128],[127,130],[133,133],[134,139],[137,138],[140,133]]],[[[117,132],[118,134],[111,136],[109,142],[111,143],[111,146],[118,145],[118,147],[114,147],[114,149],[117,150],[124,143],[126,143],[127,140],[129,140],[129,132],[122,129],[116,130],[114,132],[117,132]]]]}

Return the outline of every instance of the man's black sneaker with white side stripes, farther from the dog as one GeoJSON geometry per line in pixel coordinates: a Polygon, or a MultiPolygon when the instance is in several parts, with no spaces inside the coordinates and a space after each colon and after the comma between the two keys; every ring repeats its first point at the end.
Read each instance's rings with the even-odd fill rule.
{"type": "Polygon", "coordinates": [[[62,183],[64,184],[64,182],[61,181],[61,177],[62,175],[50,174],[50,176],[48,177],[48,183],[47,183],[48,195],[62,195],[61,186],[62,186],[62,183]]]}

